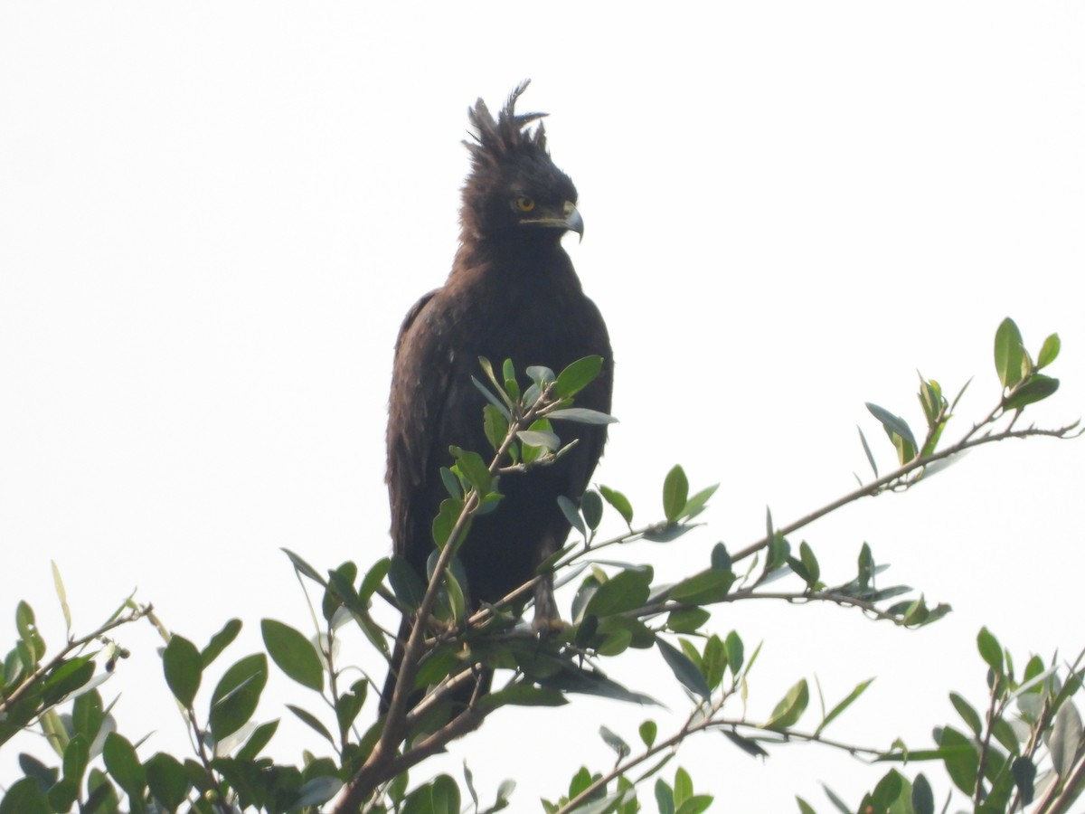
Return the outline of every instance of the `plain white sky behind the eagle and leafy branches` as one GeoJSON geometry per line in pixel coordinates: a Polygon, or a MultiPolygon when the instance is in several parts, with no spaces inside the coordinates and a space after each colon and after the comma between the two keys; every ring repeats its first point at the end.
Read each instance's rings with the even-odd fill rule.
{"type": "MultiPolygon", "coordinates": [[[[62,639],[50,559],[80,629],[138,586],[201,644],[243,619],[237,659],[261,618],[308,629],[280,547],[318,567],[387,552],[392,344],[451,262],[465,110],[523,77],[580,190],[587,231],[569,249],[615,348],[622,423],[598,480],[644,520],[676,461],[694,487],[722,483],[706,530],[630,561],[692,573],[715,542],[756,539],[766,504],[783,523],[850,489],[866,474],[856,423],[889,468],[863,404],[918,424],[916,368],[954,392],[975,376],[955,437],[997,398],[1006,315],[1034,351],[1063,341],[1063,390],[1029,414],[1085,412],[1085,8],[706,9],[0,5],[3,649],[20,598],[62,639]]],[[[1083,453],[986,448],[796,536],[832,581],[869,540],[886,576],[955,613],[915,633],[723,607],[722,635],[765,640],[751,713],[801,676],[830,704],[879,676],[827,734],[928,746],[954,721],[949,690],[982,702],[981,625],[1020,664],[1076,653],[1083,453]]],[[[180,752],[158,641],[120,638],[133,657],[103,694],[122,694],[130,737],[154,732],[144,756],[180,752]]],[[[681,712],[659,663],[611,672],[681,712]]],[[[284,717],[273,742],[295,761],[320,743],[288,724],[288,690],[319,710],[282,678],[259,714],[284,717]]],[[[669,730],[611,702],[510,712],[445,765],[465,755],[484,797],[519,775],[515,810],[535,811],[582,763],[609,766],[600,724],[633,742],[646,715],[669,730]]],[[[722,811],[793,811],[795,793],[828,811],[818,780],[857,802],[883,771],[803,747],[754,761],[718,736],[678,764],[722,811]]],[[[5,749],[0,781],[14,765],[5,749]]]]}

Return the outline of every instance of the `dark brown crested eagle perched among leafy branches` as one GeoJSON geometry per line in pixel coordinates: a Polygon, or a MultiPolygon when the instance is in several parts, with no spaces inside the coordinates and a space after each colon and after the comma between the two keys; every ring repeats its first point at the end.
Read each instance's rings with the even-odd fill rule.
{"type": "MultiPolygon", "coordinates": [[[[522,82],[495,119],[480,99],[468,115],[474,140],[463,186],[460,245],[443,288],[410,309],[399,330],[388,405],[388,498],[395,554],[425,582],[434,550],[433,518],[447,496],[439,468],[452,463],[449,445],[488,460],[483,395],[472,384],[478,357],[496,367],[512,359],[561,371],[584,356],[603,357],[599,378],[576,395],[576,406],[610,412],[613,364],[607,326],[580,289],[562,236],[583,236],[576,188],[546,147],[541,113],[515,113],[522,82]]],[[[563,443],[577,445],[556,465],[507,475],[496,510],[477,517],[459,551],[472,607],[495,602],[535,574],[558,550],[570,525],[558,497],[577,499],[607,440],[601,425],[561,422],[563,443]]],[[[549,581],[536,590],[536,627],[558,616],[549,581]]],[[[407,620],[385,686],[391,701],[407,620]]]]}

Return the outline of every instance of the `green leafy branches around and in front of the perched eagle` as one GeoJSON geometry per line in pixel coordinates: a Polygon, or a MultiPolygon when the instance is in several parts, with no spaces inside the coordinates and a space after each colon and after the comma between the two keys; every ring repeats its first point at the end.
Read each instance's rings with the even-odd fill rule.
{"type": "MultiPolygon", "coordinates": [[[[1010,653],[990,632],[981,631],[978,646],[990,688],[983,713],[952,694],[962,728],[958,724],[958,728],[936,729],[931,749],[915,750],[896,742],[883,752],[826,736],[829,725],[861,697],[872,679],[860,681],[828,710],[822,702],[820,715],[812,721],[810,687],[805,678],[796,677],[767,717],[754,718],[746,714],[742,699],[761,645],[748,647],[739,632],[720,635],[709,626],[715,606],[751,599],[830,602],[907,627],[928,625],[945,615],[947,605],[931,606],[910,587],[885,583],[886,568],[876,561],[868,545],[857,551],[854,571],[830,575],[822,572],[813,546],[794,535],[861,497],[907,489],[971,447],[1011,437],[1075,436],[1076,424],[1055,430],[1017,425],[1025,407],[1057,390],[1058,380],[1039,371],[1058,352],[1059,341],[1052,334],[1033,360],[1017,326],[1005,320],[995,340],[1001,383],[998,402],[956,443],[942,445],[943,431],[963,389],[950,403],[939,382],[920,377],[923,433],[917,435],[894,412],[868,405],[896,453],[898,466],[893,471],[879,473],[860,430],[873,480],[860,481],[852,493],[784,526],[777,525],[768,512],[761,540],[738,550],[717,544],[700,569],[675,583],[660,583],[649,563],[613,559],[614,551],[640,539],[663,544],[678,539],[699,525],[715,486],[691,491],[681,467],[674,467],[661,487],[662,519],[647,524],[634,523],[631,503],[610,486],[600,484],[582,496],[562,498],[561,509],[574,530],[571,540],[539,567],[531,582],[501,601],[475,610],[465,598],[469,586],[456,557],[472,519],[500,501],[505,479],[562,458],[570,448],[561,441],[567,422],[614,420],[575,406],[577,392],[600,370],[598,357],[580,359],[558,373],[527,368],[526,379],[518,377],[509,361],[497,371],[489,360],[481,359],[483,376],[475,384],[486,397],[482,420],[493,449],[483,456],[478,450],[451,448],[455,462],[442,471],[448,497],[433,523],[435,546],[427,583],[398,558],[379,560],[365,570],[345,562],[321,571],[286,551],[303,587],[319,597],[318,607],[312,608],[312,635],[277,620],[263,620],[266,653],[244,656],[221,671],[218,659],[237,638],[242,627],[239,620],[228,621],[200,647],[167,632],[149,607],[129,597],[95,631],[75,637],[58,573],[55,584],[68,631],[64,647],[47,660],[34,612],[21,602],[18,639],[3,665],[0,743],[20,732],[39,728],[56,752],[56,765],[22,755],[23,776],[7,788],[0,814],[73,810],[410,814],[459,812],[464,806],[475,812],[498,811],[510,804],[511,781],[501,785],[493,802],[484,802],[468,770],[462,780],[439,775],[412,788],[408,773],[502,707],[564,704],[577,694],[652,703],[602,667],[607,663],[620,670],[615,660],[628,649],[658,654],[685,688],[688,716],[668,734],[646,720],[636,745],[601,727],[600,736],[614,751],[614,764],[601,771],[582,768],[553,801],[542,802],[547,814],[625,814],[647,807],[649,801],[660,812],[705,811],[712,798],[694,791],[684,768],[671,774],[668,767],[677,746],[704,732],[720,733],[753,756],[784,743],[817,742],[871,761],[899,764],[858,807],[846,805],[827,789],[830,802],[842,812],[936,811],[927,777],[917,774],[909,779],[902,773],[916,762],[941,764],[975,812],[1027,806],[1034,812],[1064,812],[1085,788],[1085,738],[1073,702],[1082,686],[1082,657],[1062,664],[1033,656],[1018,674],[1010,653]],[[620,529],[617,533],[602,533],[608,517],[620,529]],[[578,581],[578,586],[569,624],[539,638],[520,618],[534,584],[547,576],[559,583],[578,581]],[[413,620],[409,638],[403,643],[403,669],[383,716],[375,714],[378,694],[371,691],[369,677],[359,677],[352,664],[341,664],[337,654],[343,637],[356,631],[356,639],[388,656],[391,636],[371,612],[378,601],[391,602],[413,620]],[[139,619],[157,625],[165,640],[164,677],[182,710],[191,755],[141,755],[140,745],[116,730],[112,704],[104,705],[100,695],[99,687],[111,677],[116,659],[125,654],[106,635],[139,619]],[[299,765],[280,765],[263,756],[278,727],[278,721],[256,724],[254,720],[271,664],[301,686],[298,703],[288,709],[315,733],[319,745],[303,752],[299,765]],[[481,669],[501,671],[500,682],[488,694],[478,684],[481,669]],[[424,695],[418,701],[420,690],[424,695]],[[314,698],[321,702],[316,711],[301,705],[314,698]],[[68,712],[61,714],[62,709],[68,712]]],[[[802,812],[814,811],[804,800],[797,804],[802,812]]]]}

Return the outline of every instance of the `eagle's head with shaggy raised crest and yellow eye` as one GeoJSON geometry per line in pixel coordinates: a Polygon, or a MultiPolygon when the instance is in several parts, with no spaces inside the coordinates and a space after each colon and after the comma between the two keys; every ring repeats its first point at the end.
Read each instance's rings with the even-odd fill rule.
{"type": "Polygon", "coordinates": [[[482,99],[468,112],[474,132],[464,142],[471,151],[460,213],[464,238],[557,242],[566,231],[584,234],[576,187],[551,161],[541,123],[528,129],[546,114],[515,112],[528,81],[496,119],[482,99]]]}

